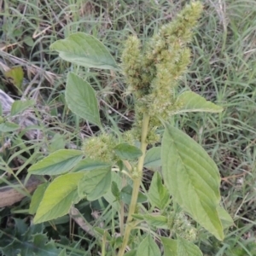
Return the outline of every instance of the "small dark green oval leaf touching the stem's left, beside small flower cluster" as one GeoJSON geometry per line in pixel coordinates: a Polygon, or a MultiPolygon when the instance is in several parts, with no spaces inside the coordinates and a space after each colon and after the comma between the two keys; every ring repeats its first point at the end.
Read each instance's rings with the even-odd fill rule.
{"type": "Polygon", "coordinates": [[[143,154],[141,149],[128,143],[120,143],[113,150],[121,160],[135,160],[143,154]]]}

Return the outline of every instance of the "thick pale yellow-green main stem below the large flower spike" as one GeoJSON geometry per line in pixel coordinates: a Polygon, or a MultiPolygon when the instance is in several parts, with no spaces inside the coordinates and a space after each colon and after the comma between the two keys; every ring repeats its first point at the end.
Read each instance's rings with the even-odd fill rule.
{"type": "Polygon", "coordinates": [[[147,113],[144,113],[143,115],[143,129],[142,129],[142,138],[141,138],[141,150],[143,152],[143,155],[139,158],[137,162],[137,177],[133,180],[133,189],[132,189],[132,195],[131,195],[131,204],[129,207],[128,217],[126,221],[125,226],[125,235],[124,240],[122,243],[122,246],[119,249],[118,256],[123,256],[125,253],[125,247],[128,244],[129,237],[131,234],[131,220],[132,220],[132,214],[134,214],[137,206],[137,196],[139,193],[140,185],[143,178],[143,165],[144,165],[144,159],[146,155],[146,149],[147,149],[147,136],[148,136],[148,123],[149,123],[149,116],[147,113]]]}

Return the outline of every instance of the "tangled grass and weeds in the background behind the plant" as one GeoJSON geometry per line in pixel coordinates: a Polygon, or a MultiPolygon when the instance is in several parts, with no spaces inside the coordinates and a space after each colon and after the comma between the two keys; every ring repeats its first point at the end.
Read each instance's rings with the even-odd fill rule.
{"type": "MultiPolygon", "coordinates": [[[[76,67],[61,61],[49,50],[50,44],[73,32],[87,32],[107,45],[119,61],[129,34],[146,41],[185,3],[188,1],[0,1],[0,67],[3,71],[3,67],[20,65],[25,75],[19,88],[3,71],[0,89],[14,99],[22,95],[37,101],[34,112],[38,129],[44,134],[30,141],[22,131],[0,134],[2,144],[7,137],[11,141],[11,147],[0,153],[0,186],[13,188],[10,182],[26,177],[27,168],[44,154],[70,143],[80,147],[81,138],[97,132],[96,127],[68,111],[63,96],[65,74],[76,67]],[[39,150],[42,147],[44,152],[39,150]]],[[[192,64],[182,85],[223,106],[224,113],[189,113],[175,121],[217,163],[224,207],[235,224],[223,242],[199,232],[198,245],[204,255],[256,255],[256,5],[254,0],[203,3],[203,17],[190,45],[192,64]]],[[[132,97],[125,95],[121,75],[96,70],[89,73],[85,69],[79,69],[79,73],[90,79],[97,90],[104,124],[109,129],[129,129],[133,103],[132,97]]],[[[151,177],[148,171],[146,187],[151,177]]],[[[40,234],[42,243],[38,247],[50,247],[56,252],[55,247],[66,247],[67,255],[96,255],[94,239],[68,216],[40,225],[37,230],[30,227],[29,201],[26,197],[15,206],[0,209],[0,240],[9,239],[0,242],[0,247],[7,241],[12,247],[27,246],[33,234],[40,234]]],[[[103,229],[114,230],[110,224],[115,216],[105,201],[90,205],[83,201],[79,210],[91,225],[102,224],[103,229]]]]}

